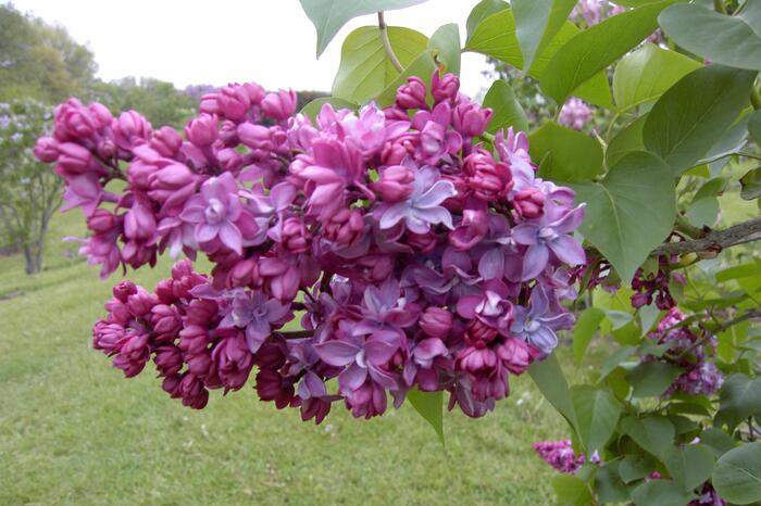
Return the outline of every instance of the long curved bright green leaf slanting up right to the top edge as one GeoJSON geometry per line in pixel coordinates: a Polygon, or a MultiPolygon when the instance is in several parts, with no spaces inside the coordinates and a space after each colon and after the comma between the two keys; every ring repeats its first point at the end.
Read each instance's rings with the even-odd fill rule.
{"type": "Polygon", "coordinates": [[[539,85],[558,104],[574,89],[626,54],[658,27],[658,14],[673,0],[666,0],[607,18],[579,33],[560,48],[547,64],[539,85]]]}

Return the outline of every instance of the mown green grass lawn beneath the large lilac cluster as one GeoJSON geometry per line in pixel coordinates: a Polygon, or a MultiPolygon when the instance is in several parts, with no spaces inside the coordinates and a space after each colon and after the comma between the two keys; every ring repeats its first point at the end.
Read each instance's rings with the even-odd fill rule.
{"type": "MultiPolygon", "coordinates": [[[[552,502],[531,445],[566,431],[527,376],[485,418],[447,413],[446,448],[408,405],[370,421],[335,405],[314,426],[251,385],[195,412],[148,369],[125,380],[90,349],[117,276],[62,255],[76,245],[61,237],[82,233],[78,211],[58,215],[36,276],[0,258],[0,504],[552,502]]],[[[170,265],[129,277],[152,287],[170,265]]]]}

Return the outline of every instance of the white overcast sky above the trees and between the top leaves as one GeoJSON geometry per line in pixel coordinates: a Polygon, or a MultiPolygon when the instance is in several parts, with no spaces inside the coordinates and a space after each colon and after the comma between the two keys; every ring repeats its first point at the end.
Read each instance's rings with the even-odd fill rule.
{"type": "MultiPolygon", "coordinates": [[[[346,0],[352,1],[352,0],[346,0]]],[[[329,91],[340,46],[374,15],[349,22],[320,60],[314,26],[298,0],[13,0],[20,11],[60,24],[95,53],[105,80],[146,76],[174,83],[224,85],[255,80],[269,89],[329,91]]],[[[386,13],[388,25],[431,36],[447,23],[460,25],[477,0],[428,0],[386,13]]],[[[475,97],[487,85],[484,56],[465,53],[462,90],[475,97]]]]}

